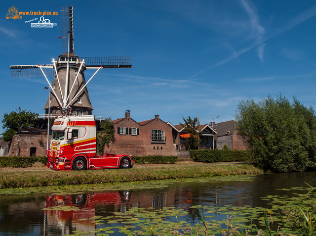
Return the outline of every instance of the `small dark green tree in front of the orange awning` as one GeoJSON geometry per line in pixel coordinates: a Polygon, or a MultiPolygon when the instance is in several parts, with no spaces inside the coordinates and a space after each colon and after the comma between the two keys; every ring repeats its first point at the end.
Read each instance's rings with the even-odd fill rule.
{"type": "Polygon", "coordinates": [[[182,127],[184,127],[185,131],[188,131],[190,133],[190,138],[188,138],[187,146],[189,149],[198,149],[199,143],[201,142],[200,140],[200,132],[197,131],[197,117],[192,119],[190,116],[188,119],[185,119],[184,117],[183,121],[184,124],[181,124],[182,127]]]}

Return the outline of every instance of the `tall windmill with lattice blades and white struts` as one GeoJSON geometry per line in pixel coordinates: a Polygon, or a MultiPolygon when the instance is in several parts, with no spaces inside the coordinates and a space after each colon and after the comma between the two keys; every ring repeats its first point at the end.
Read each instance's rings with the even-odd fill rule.
{"type": "Polygon", "coordinates": [[[44,106],[46,114],[73,113],[91,115],[92,105],[86,86],[103,68],[131,68],[129,56],[79,57],[74,53],[73,6],[61,7],[62,54],[53,64],[12,65],[12,78],[44,76],[50,88],[49,98],[44,106]],[[92,77],[85,82],[83,72],[95,69],[92,77]],[[47,76],[54,76],[50,84],[47,76]],[[50,110],[50,112],[49,112],[50,110]]]}

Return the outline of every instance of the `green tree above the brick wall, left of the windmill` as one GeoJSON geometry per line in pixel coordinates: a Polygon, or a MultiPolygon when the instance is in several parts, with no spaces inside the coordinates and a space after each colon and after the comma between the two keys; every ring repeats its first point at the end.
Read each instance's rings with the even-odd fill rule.
{"type": "Polygon", "coordinates": [[[36,117],[39,114],[22,110],[21,107],[12,111],[9,114],[4,113],[2,123],[3,129],[5,129],[3,136],[3,141],[10,141],[13,135],[21,128],[35,127],[36,117]]]}

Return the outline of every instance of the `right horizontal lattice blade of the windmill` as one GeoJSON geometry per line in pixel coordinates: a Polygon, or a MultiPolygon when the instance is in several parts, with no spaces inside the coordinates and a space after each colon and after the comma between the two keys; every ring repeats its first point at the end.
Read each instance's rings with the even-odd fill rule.
{"type": "Polygon", "coordinates": [[[132,62],[130,56],[93,56],[80,57],[84,59],[84,64],[87,69],[98,68],[131,68],[132,62]]]}

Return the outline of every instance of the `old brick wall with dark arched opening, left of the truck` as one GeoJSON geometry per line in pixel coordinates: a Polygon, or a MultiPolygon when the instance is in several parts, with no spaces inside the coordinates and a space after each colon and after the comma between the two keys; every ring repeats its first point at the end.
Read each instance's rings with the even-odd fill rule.
{"type": "Polygon", "coordinates": [[[31,147],[36,147],[36,156],[46,156],[46,145],[47,134],[18,134],[12,139],[8,156],[30,156],[31,147]]]}

